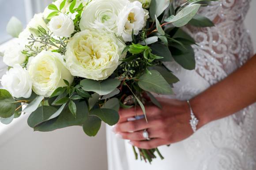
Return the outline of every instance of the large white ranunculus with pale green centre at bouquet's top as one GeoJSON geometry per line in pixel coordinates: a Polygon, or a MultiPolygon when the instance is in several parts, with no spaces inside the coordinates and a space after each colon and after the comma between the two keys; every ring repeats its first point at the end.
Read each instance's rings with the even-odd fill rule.
{"type": "Polygon", "coordinates": [[[130,3],[129,0],[93,0],[83,11],[81,30],[104,28],[116,33],[118,15],[130,3]]]}

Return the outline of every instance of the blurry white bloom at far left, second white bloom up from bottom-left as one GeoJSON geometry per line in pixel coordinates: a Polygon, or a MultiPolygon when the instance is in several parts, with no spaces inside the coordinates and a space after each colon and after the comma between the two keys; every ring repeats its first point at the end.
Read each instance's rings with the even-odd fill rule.
{"type": "Polygon", "coordinates": [[[22,46],[18,42],[13,42],[5,49],[3,62],[10,67],[13,67],[15,64],[24,63],[26,56],[22,51],[22,46]]]}

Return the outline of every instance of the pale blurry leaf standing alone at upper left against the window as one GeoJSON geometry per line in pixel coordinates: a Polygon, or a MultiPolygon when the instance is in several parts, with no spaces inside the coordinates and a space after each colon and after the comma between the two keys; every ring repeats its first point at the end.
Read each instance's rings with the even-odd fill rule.
{"type": "Polygon", "coordinates": [[[19,37],[19,33],[23,30],[23,25],[16,17],[11,17],[10,21],[6,26],[7,33],[10,34],[14,38],[19,37]]]}

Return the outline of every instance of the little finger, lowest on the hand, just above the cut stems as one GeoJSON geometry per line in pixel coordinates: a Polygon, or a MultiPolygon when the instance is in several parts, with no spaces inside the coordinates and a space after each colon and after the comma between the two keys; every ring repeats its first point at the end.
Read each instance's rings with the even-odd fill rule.
{"type": "Polygon", "coordinates": [[[153,149],[157,148],[158,146],[166,145],[168,142],[166,140],[160,139],[160,138],[155,138],[149,141],[136,141],[136,140],[131,140],[129,142],[133,146],[136,146],[141,149],[153,149]]]}

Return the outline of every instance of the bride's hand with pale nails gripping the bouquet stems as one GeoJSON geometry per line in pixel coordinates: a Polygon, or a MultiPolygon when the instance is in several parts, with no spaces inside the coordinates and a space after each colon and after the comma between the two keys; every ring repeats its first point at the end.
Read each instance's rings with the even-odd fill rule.
{"type": "Polygon", "coordinates": [[[159,102],[162,109],[153,105],[145,107],[148,123],[145,118],[128,121],[136,115],[143,115],[141,109],[121,109],[120,121],[113,127],[113,131],[119,137],[130,140],[132,145],[144,149],[179,142],[192,135],[188,103],[172,99],[159,99],[159,102]],[[144,129],[147,129],[151,140],[147,141],[143,137],[144,129]]]}

